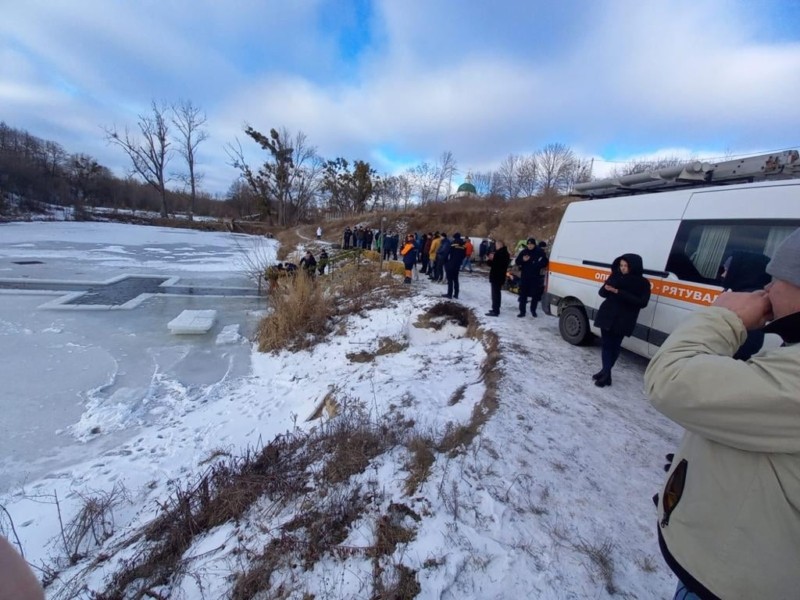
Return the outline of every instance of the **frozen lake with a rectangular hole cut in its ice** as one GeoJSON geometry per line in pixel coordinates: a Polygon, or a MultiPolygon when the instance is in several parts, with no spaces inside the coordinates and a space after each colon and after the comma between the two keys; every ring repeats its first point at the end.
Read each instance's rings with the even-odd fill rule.
{"type": "Polygon", "coordinates": [[[162,412],[247,377],[248,339],[265,308],[242,274],[252,244],[154,227],[0,225],[0,492],[102,453],[162,412]],[[58,306],[69,290],[102,295],[109,288],[97,284],[122,275],[172,285],[137,297],[132,280],[117,293],[119,303],[136,297],[129,309],[58,306]],[[231,295],[209,295],[215,288],[231,295]],[[215,309],[214,327],[172,335],[167,323],[185,309],[215,309]],[[218,338],[226,326],[241,337],[218,338]]]}

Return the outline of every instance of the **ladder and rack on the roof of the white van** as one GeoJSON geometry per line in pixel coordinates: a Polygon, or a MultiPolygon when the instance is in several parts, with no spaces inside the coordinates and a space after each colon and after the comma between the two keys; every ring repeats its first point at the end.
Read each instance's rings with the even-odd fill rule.
{"type": "Polygon", "coordinates": [[[800,177],[800,154],[786,150],[759,154],[717,163],[692,161],[657,171],[610,177],[577,184],[571,196],[610,198],[650,192],[666,192],[686,187],[748,183],[768,179],[800,177]]]}

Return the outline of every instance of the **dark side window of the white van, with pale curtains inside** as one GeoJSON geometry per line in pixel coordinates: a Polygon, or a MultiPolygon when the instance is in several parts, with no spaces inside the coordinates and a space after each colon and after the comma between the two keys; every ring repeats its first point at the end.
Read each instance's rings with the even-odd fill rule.
{"type": "Polygon", "coordinates": [[[665,271],[678,279],[720,285],[723,265],[734,252],[771,257],[800,221],[684,221],[678,228],[665,271]]]}

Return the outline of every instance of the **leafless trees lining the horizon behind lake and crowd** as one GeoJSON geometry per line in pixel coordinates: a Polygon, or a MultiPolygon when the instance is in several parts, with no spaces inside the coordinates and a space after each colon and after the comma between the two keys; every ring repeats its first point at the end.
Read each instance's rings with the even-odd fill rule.
{"type": "MultiPolygon", "coordinates": [[[[170,181],[184,184],[179,194],[188,197],[185,204],[190,219],[198,197],[209,198],[199,189],[202,173],[197,170],[198,148],[208,139],[206,123],[205,113],[190,100],[172,105],[152,101],[149,112],[138,115],[133,129],[127,125],[122,130],[116,126],[103,128],[107,142],[121,148],[130,159],[130,177],[140,179],[157,194],[163,217],[172,212],[170,202],[174,202],[177,193],[167,188],[170,181]],[[183,158],[184,168],[171,172],[175,153],[183,158]]],[[[55,179],[62,172],[68,173],[69,189],[65,195],[71,194],[76,206],[93,202],[102,195],[101,183],[114,179],[108,169],[89,156],[67,155],[58,144],[11,135],[9,131],[14,130],[2,124],[0,160],[3,148],[11,147],[10,155],[15,159],[37,165],[39,178],[41,172],[55,179]]],[[[230,164],[239,170],[240,178],[231,185],[225,199],[234,214],[258,216],[278,226],[315,218],[321,211],[359,214],[445,201],[452,197],[455,184],[465,179],[450,151],[442,152],[434,162],[422,162],[405,172],[379,175],[363,160],[323,159],[302,131],[273,128],[264,134],[246,126],[244,133],[265,155],[259,164],[251,165],[238,139],[226,144],[230,164]]],[[[621,166],[617,174],[677,162],[666,158],[631,163],[621,166]]],[[[588,160],[578,157],[565,144],[551,143],[531,154],[509,154],[497,169],[470,175],[479,196],[513,199],[568,193],[576,183],[590,180],[592,173],[588,160]]]]}

